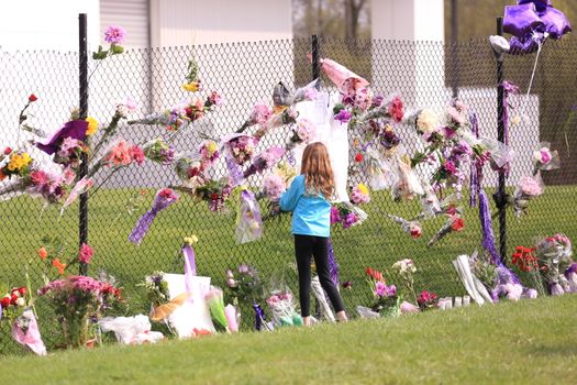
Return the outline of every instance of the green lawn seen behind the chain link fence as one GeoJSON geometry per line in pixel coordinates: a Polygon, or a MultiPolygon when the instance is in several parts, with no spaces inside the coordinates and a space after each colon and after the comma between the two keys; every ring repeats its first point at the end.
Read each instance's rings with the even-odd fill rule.
{"type": "MultiPolygon", "coordinates": [[[[137,218],[148,209],[154,191],[148,190],[141,211],[130,215],[126,204],[138,194],[138,189],[102,189],[89,202],[89,243],[95,248],[90,274],[100,268],[119,278],[130,300],[130,314],[146,312],[148,305],[142,289],[135,285],[147,274],[160,270],[181,273],[184,263],[180,244],[185,237],[199,238],[197,264],[200,275],[212,277],[215,285],[224,286],[226,268],[240,263],[255,265],[267,284],[278,282],[279,274],[289,272],[287,284],[297,292],[297,280],[289,266],[293,263],[293,245],[290,235],[289,217],[265,223],[264,237],[245,244],[234,240],[234,216],[213,213],[204,202],[190,197],[160,212],[140,246],[127,241],[127,235],[137,218]]],[[[532,245],[539,237],[565,232],[569,238],[577,234],[575,221],[576,186],[547,186],[545,194],[531,202],[529,216],[520,221],[508,215],[508,245],[512,252],[515,245],[532,245]]],[[[488,191],[490,194],[490,191],[488,191]]],[[[464,198],[464,202],[467,199],[464,198]]],[[[364,268],[367,266],[384,270],[391,277],[389,283],[400,282],[390,272],[398,260],[412,258],[418,267],[415,289],[436,292],[441,297],[464,295],[465,290],[451,264],[458,254],[470,254],[480,244],[480,229],[477,209],[465,209],[466,229],[447,235],[432,248],[426,248],[429,239],[442,226],[439,218],[423,223],[423,237],[411,239],[398,224],[386,218],[395,213],[410,218],[420,211],[418,202],[396,204],[388,191],[373,193],[371,201],[365,206],[368,220],[348,230],[333,231],[335,255],[341,267],[341,280],[352,280],[351,290],[343,290],[348,312],[359,304],[368,304],[370,292],[365,284],[364,268]]],[[[69,244],[70,253],[78,242],[77,204],[58,216],[56,208],[42,210],[38,199],[22,196],[0,202],[0,280],[11,285],[23,284],[26,263],[33,287],[41,284],[41,265],[36,250],[46,234],[59,237],[69,244]]],[[[497,224],[495,224],[497,226],[497,224]]],[[[498,238],[498,229],[496,228],[498,238]]],[[[510,253],[509,253],[510,254],[510,253]]],[[[270,286],[269,285],[269,286],[270,286]]],[[[48,346],[54,340],[54,323],[43,299],[37,301],[40,311],[46,315],[41,319],[48,346]],[[48,332],[49,331],[49,332],[48,332]]],[[[244,312],[249,311],[245,309],[244,312]]],[[[42,316],[42,315],[41,315],[42,316]]],[[[245,329],[249,322],[243,324],[245,329]]],[[[0,336],[0,353],[18,352],[19,348],[0,336]]]]}

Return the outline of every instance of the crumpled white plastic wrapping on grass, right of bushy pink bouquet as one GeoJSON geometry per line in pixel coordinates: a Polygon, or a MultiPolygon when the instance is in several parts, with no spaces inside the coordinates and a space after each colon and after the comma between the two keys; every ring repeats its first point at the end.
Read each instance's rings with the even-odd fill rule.
{"type": "Polygon", "coordinates": [[[164,339],[159,331],[152,331],[151,321],[145,315],[134,317],[106,317],[99,321],[103,332],[112,331],[122,344],[155,343],[164,339]]]}

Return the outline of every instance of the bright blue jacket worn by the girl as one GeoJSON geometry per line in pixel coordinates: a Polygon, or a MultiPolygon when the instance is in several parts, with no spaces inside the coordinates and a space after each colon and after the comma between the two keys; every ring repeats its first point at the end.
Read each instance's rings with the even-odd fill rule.
{"type": "Polygon", "coordinates": [[[292,211],[292,233],[331,237],[331,204],[322,195],[307,195],[304,175],[292,179],[280,197],[280,209],[292,211]]]}

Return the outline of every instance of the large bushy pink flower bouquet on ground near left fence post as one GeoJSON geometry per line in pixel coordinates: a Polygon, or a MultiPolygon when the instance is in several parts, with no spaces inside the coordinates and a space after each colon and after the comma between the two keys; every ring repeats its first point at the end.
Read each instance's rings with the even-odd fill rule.
{"type": "Polygon", "coordinates": [[[48,283],[38,289],[46,296],[60,322],[66,346],[80,348],[93,336],[96,322],[114,312],[122,301],[113,285],[88,276],[73,275],[48,283]]]}

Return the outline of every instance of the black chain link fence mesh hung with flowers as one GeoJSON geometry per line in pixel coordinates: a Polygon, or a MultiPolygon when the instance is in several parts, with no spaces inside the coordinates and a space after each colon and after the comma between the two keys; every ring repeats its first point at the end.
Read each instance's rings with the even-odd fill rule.
{"type": "MultiPolygon", "coordinates": [[[[163,127],[121,123],[116,138],[132,143],[144,143],[154,138],[169,141],[179,154],[197,151],[206,138],[217,141],[234,132],[245,121],[252,107],[258,102],[270,105],[273,87],[282,81],[289,89],[303,86],[312,78],[312,67],[307,58],[311,40],[268,41],[207,46],[179,46],[151,50],[130,50],[104,61],[89,59],[88,116],[101,127],[108,125],[118,101],[126,96],[136,100],[140,110],[131,118],[142,118],[165,110],[189,99],[180,88],[188,73],[190,59],[199,67],[204,87],[201,97],[218,90],[225,103],[204,119],[168,132],[163,127]]],[[[320,40],[321,57],[332,58],[370,81],[377,95],[399,94],[407,110],[423,107],[442,111],[455,94],[476,111],[480,133],[497,138],[497,70],[493,53],[486,40],[456,45],[436,42],[344,42],[320,40]]],[[[577,45],[573,42],[547,42],[540,54],[531,90],[535,54],[504,57],[504,79],[517,84],[521,95],[509,99],[510,143],[515,152],[507,190],[512,194],[520,177],[530,175],[531,156],[540,142],[548,141],[559,152],[562,168],[547,172],[545,194],[531,202],[529,216],[517,220],[507,215],[508,255],[515,245],[532,245],[535,238],[555,232],[569,237],[576,233],[574,207],[577,167],[573,154],[577,144],[576,120],[572,120],[577,103],[575,58],[577,45]],[[526,92],[526,94],[525,94],[526,92]]],[[[34,139],[29,132],[18,131],[18,117],[30,94],[38,100],[27,110],[30,121],[46,132],[52,132],[69,120],[70,111],[78,107],[78,55],[59,52],[0,52],[0,132],[2,147],[26,146],[33,157],[48,158],[30,144],[34,139]]],[[[324,75],[323,75],[324,76],[324,75]]],[[[323,90],[337,90],[329,80],[323,90]]],[[[282,145],[291,133],[285,125],[266,135],[258,150],[282,145]]],[[[424,147],[414,128],[396,127],[409,154],[424,147]]],[[[98,136],[97,136],[98,138],[98,136]]],[[[354,164],[356,155],[354,135],[349,135],[348,156],[354,164]]],[[[98,154],[96,154],[98,157],[98,154]]],[[[419,173],[426,174],[422,167],[419,173]]],[[[211,170],[211,176],[226,174],[223,162],[211,170]]],[[[351,173],[351,184],[366,183],[364,172],[351,173]]],[[[260,177],[247,180],[249,188],[262,189],[260,177]]],[[[184,272],[180,255],[182,239],[196,234],[198,274],[211,276],[214,285],[225,286],[225,272],[242,263],[255,266],[265,283],[271,287],[280,278],[298,293],[293,268],[293,241],[290,235],[289,216],[264,223],[264,237],[255,242],[237,244],[234,239],[234,210],[214,213],[207,204],[182,194],[179,201],[158,215],[140,246],[127,241],[127,235],[138,218],[149,209],[158,188],[178,185],[174,167],[156,163],[132,165],[109,176],[97,175],[98,190],[89,193],[88,242],[95,257],[88,274],[103,271],[119,279],[125,290],[130,314],[147,312],[145,294],[136,286],[145,275],[155,271],[184,272]]],[[[1,183],[0,183],[1,184],[1,183]]],[[[485,188],[495,193],[497,174],[486,170],[485,188]]],[[[467,205],[467,191],[463,206],[467,205]]],[[[495,206],[491,209],[496,210],[495,206]]],[[[266,210],[262,206],[262,210],[266,210]]],[[[387,213],[411,218],[421,211],[417,201],[395,202],[389,191],[373,191],[366,206],[368,220],[347,230],[336,228],[332,233],[335,257],[340,265],[341,282],[351,282],[342,288],[348,314],[355,315],[356,305],[368,305],[371,293],[365,283],[365,268],[382,270],[389,283],[400,286],[391,265],[402,258],[412,258],[417,265],[414,287],[440,296],[464,295],[465,289],[451,263],[459,254],[470,254],[480,248],[480,226],[476,208],[465,207],[465,231],[452,233],[437,244],[428,248],[426,241],[444,223],[442,218],[423,223],[423,237],[411,239],[387,213]]],[[[0,280],[11,286],[24,283],[26,268],[32,287],[43,284],[42,264],[36,250],[42,238],[56,237],[67,245],[73,255],[78,244],[78,204],[60,216],[59,208],[44,207],[40,199],[16,196],[0,202],[0,280]],[[26,267],[27,266],[27,267],[26,267]]],[[[493,221],[496,234],[499,231],[493,221]]],[[[410,299],[410,298],[409,298],[410,299]]],[[[38,312],[51,315],[43,299],[36,301],[38,312]]],[[[251,309],[243,309],[243,328],[251,327],[251,309]]],[[[52,317],[54,318],[54,317],[52,317]]],[[[57,345],[55,319],[46,316],[40,320],[44,339],[49,346],[57,345]]],[[[8,329],[0,334],[0,351],[10,353],[19,348],[9,339],[8,329]]]]}

